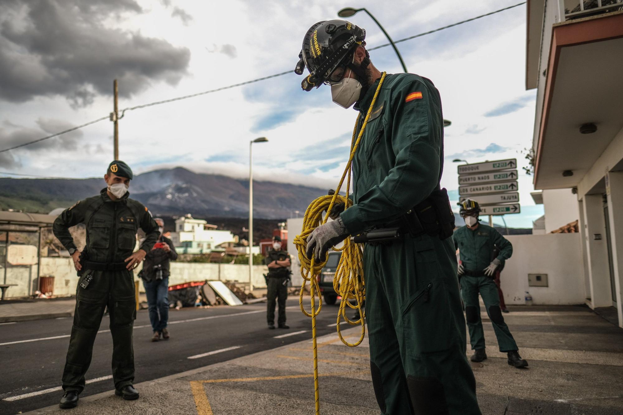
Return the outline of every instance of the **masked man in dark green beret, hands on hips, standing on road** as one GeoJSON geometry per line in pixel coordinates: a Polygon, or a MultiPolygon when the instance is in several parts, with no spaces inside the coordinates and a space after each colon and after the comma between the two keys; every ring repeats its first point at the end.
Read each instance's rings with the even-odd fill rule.
{"type": "Polygon", "coordinates": [[[110,313],[113,337],[113,380],[115,394],[126,400],[138,399],[134,384],[132,330],[136,317],[134,274],[158,239],[158,225],[141,203],[128,198],[132,171],[123,161],[108,165],[106,188],[65,209],[54,221],[54,235],[69,250],[80,276],[76,292],[74,326],[63,372],[60,408],[74,408],[85,386],[93,343],[102,322],[104,308],[110,313]],[[87,227],[87,244],[77,250],[69,227],[87,227]],[[145,241],[136,247],[138,227],[145,241]]]}

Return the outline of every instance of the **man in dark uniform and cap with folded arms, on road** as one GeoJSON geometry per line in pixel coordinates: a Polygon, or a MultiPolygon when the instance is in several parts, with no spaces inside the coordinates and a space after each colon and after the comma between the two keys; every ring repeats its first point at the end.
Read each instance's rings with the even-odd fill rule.
{"type": "Polygon", "coordinates": [[[288,298],[288,280],[290,280],[290,255],[282,249],[282,241],[278,236],[273,236],[273,249],[269,250],[264,263],[269,267],[267,276],[268,300],[266,318],[269,328],[275,328],[275,298],[279,304],[277,325],[279,328],[290,328],[285,323],[285,300],[288,298]]]}

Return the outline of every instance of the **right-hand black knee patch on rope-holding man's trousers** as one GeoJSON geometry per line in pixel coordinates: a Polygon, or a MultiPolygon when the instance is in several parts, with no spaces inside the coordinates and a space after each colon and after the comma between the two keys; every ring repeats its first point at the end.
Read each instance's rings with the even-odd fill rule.
{"type": "Polygon", "coordinates": [[[407,376],[407,388],[415,415],[450,415],[444,385],[433,378],[407,376]]]}

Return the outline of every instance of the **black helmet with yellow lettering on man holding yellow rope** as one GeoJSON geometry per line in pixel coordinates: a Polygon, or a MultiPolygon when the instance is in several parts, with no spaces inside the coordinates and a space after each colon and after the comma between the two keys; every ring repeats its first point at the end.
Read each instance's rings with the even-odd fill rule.
{"type": "Polygon", "coordinates": [[[366,44],[364,39],[365,29],[345,20],[322,21],[310,27],[294,70],[302,75],[307,66],[310,72],[301,82],[303,90],[311,91],[323,83],[340,82],[346,67],[353,69],[355,74],[361,74],[361,70],[370,63],[368,52],[361,67],[353,65],[352,60],[356,47],[366,44]]]}

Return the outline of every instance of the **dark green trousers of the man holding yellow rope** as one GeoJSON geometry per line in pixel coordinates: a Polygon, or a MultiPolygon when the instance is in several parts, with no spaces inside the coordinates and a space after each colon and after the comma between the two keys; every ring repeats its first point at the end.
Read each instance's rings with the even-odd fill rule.
{"type": "Polygon", "coordinates": [[[370,367],[383,414],[481,414],[454,264],[450,238],[366,244],[370,367]]]}

